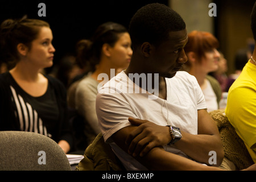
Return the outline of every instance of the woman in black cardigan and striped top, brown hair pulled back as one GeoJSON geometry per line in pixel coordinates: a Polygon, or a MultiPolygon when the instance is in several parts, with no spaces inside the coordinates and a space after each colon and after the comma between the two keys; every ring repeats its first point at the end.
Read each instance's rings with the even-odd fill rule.
{"type": "Polygon", "coordinates": [[[64,85],[41,73],[53,64],[52,31],[38,19],[7,19],[1,24],[2,55],[15,63],[0,75],[0,130],[31,131],[72,146],[64,85]]]}

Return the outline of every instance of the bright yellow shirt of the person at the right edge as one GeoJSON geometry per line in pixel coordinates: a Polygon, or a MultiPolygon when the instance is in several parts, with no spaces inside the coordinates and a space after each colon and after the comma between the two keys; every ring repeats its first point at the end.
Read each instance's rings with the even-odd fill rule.
{"type": "Polygon", "coordinates": [[[256,65],[250,60],[229,89],[225,113],[256,163],[256,65]]]}

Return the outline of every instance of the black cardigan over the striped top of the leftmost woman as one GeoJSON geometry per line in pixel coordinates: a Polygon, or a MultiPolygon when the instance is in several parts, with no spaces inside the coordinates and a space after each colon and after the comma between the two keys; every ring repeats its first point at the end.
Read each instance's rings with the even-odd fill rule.
{"type": "MultiPolygon", "coordinates": [[[[20,131],[20,124],[18,118],[15,117],[13,105],[11,104],[11,89],[10,89],[10,73],[3,73],[0,75],[0,131],[20,131]]],[[[72,147],[73,138],[71,127],[68,121],[68,107],[67,107],[67,92],[64,85],[48,75],[44,75],[48,79],[49,86],[53,87],[56,94],[56,101],[59,107],[60,118],[55,133],[55,142],[59,140],[66,140],[72,147]]]]}

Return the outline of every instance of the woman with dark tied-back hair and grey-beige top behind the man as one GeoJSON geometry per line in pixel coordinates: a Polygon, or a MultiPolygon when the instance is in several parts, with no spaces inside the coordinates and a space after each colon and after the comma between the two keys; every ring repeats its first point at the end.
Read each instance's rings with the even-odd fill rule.
{"type": "Polygon", "coordinates": [[[89,60],[93,71],[76,86],[75,108],[89,123],[88,135],[92,133],[90,138],[93,140],[101,132],[95,109],[98,87],[120,72],[119,69],[122,71],[128,67],[133,51],[127,29],[113,22],[101,24],[91,40],[80,43],[84,44],[84,49],[80,46],[82,53],[79,55],[89,60]]]}

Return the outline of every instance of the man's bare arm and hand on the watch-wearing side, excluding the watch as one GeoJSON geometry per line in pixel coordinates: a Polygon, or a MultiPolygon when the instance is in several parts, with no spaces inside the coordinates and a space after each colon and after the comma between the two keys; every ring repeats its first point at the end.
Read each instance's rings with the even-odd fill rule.
{"type": "MultiPolygon", "coordinates": [[[[183,138],[176,142],[175,146],[192,159],[205,164],[209,162],[209,152],[215,151],[217,154],[216,166],[220,166],[224,158],[224,151],[216,124],[206,110],[199,110],[198,116],[198,135],[181,130],[183,138]]],[[[129,118],[129,121],[138,126],[137,129],[130,132],[126,140],[130,144],[129,154],[133,156],[138,154],[143,156],[151,148],[164,146],[171,140],[170,131],[166,126],[159,126],[141,119],[129,118]]]]}

